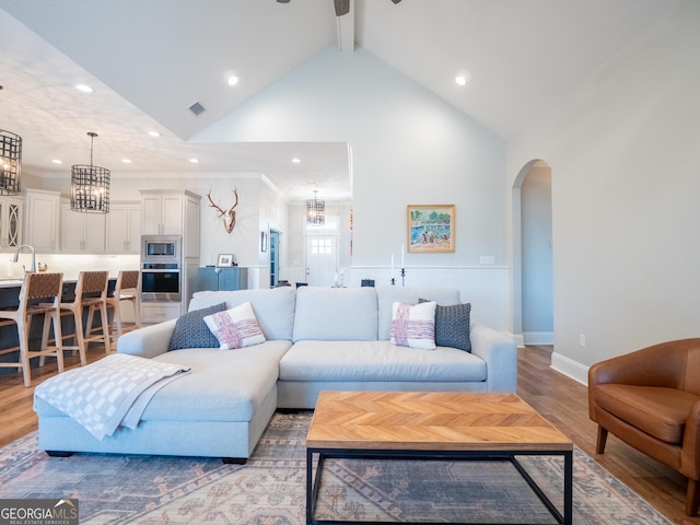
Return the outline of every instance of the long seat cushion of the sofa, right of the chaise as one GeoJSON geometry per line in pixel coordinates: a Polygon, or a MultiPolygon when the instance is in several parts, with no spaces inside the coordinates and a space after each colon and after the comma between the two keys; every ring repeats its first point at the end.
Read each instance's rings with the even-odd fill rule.
{"type": "Polygon", "coordinates": [[[486,381],[486,362],[456,348],[388,341],[299,341],[280,361],[281,381],[486,381]]]}

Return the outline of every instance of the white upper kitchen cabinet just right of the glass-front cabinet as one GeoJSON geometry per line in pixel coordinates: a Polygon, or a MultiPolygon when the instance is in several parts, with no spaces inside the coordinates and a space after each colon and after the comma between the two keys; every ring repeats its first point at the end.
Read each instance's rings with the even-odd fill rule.
{"type": "Polygon", "coordinates": [[[25,195],[24,244],[33,246],[36,253],[57,253],[60,194],[44,189],[27,189],[25,195]]]}

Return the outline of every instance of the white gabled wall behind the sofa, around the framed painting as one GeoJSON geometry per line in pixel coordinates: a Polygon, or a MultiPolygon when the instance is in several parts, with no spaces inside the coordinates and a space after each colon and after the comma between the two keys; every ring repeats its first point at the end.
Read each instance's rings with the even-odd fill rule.
{"type": "MultiPolygon", "coordinates": [[[[388,282],[390,256],[398,265],[406,244],[407,205],[454,203],[456,252],[406,254],[406,284],[459,287],[475,318],[505,329],[504,140],[372,54],[335,47],[195,138],[319,140],[352,147],[353,256],[346,283],[388,282]],[[493,264],[480,265],[481,256],[493,264]]],[[[300,257],[292,252],[294,265],[300,257]]]]}

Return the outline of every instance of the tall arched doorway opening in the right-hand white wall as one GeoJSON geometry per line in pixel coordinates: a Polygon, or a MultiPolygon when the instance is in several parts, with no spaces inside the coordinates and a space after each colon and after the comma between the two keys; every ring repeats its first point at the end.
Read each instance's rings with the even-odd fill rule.
{"type": "Polygon", "coordinates": [[[553,345],[551,167],[527,163],[513,185],[514,325],[525,345],[553,345]],[[515,278],[517,277],[517,278],[515,278]]]}

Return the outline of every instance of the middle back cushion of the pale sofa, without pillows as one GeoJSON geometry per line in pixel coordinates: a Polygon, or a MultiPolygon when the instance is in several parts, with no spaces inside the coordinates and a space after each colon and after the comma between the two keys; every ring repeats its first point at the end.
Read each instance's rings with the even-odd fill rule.
{"type": "Polygon", "coordinates": [[[374,288],[301,287],[296,290],[293,341],[376,340],[374,288]]]}

